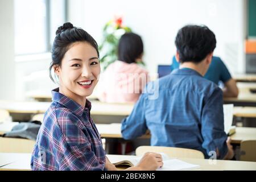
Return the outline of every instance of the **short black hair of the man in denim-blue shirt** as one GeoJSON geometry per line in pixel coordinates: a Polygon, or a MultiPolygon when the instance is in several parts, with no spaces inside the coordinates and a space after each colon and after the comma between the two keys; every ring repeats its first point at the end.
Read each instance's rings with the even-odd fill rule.
{"type": "Polygon", "coordinates": [[[216,38],[207,26],[187,25],[177,32],[175,45],[181,63],[200,63],[214,51],[216,38]]]}

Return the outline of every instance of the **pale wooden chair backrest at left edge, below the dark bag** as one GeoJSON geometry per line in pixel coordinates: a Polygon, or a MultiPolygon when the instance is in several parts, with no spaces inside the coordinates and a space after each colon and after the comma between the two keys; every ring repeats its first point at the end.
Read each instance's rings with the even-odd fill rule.
{"type": "Polygon", "coordinates": [[[32,153],[34,146],[34,140],[0,137],[0,152],[3,153],[32,153]]]}

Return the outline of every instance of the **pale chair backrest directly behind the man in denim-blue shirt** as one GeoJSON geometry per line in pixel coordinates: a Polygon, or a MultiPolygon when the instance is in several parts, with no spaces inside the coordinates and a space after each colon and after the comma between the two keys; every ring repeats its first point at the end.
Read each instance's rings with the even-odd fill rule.
{"type": "Polygon", "coordinates": [[[143,155],[146,152],[162,152],[168,155],[170,158],[195,158],[204,159],[204,154],[201,151],[177,148],[177,147],[160,147],[160,146],[140,146],[136,148],[136,155],[143,155]]]}

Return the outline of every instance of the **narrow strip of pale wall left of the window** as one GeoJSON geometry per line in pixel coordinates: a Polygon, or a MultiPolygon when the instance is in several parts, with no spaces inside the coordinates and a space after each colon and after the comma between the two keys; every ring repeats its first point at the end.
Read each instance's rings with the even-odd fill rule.
{"type": "Polygon", "coordinates": [[[0,99],[15,97],[14,4],[0,0],[0,99]]]}

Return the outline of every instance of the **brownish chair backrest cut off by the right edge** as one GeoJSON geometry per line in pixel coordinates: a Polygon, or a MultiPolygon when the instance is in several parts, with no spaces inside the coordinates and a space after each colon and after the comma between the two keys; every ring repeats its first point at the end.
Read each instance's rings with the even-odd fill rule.
{"type": "Polygon", "coordinates": [[[256,140],[242,140],[240,160],[256,162],[256,140]]]}

